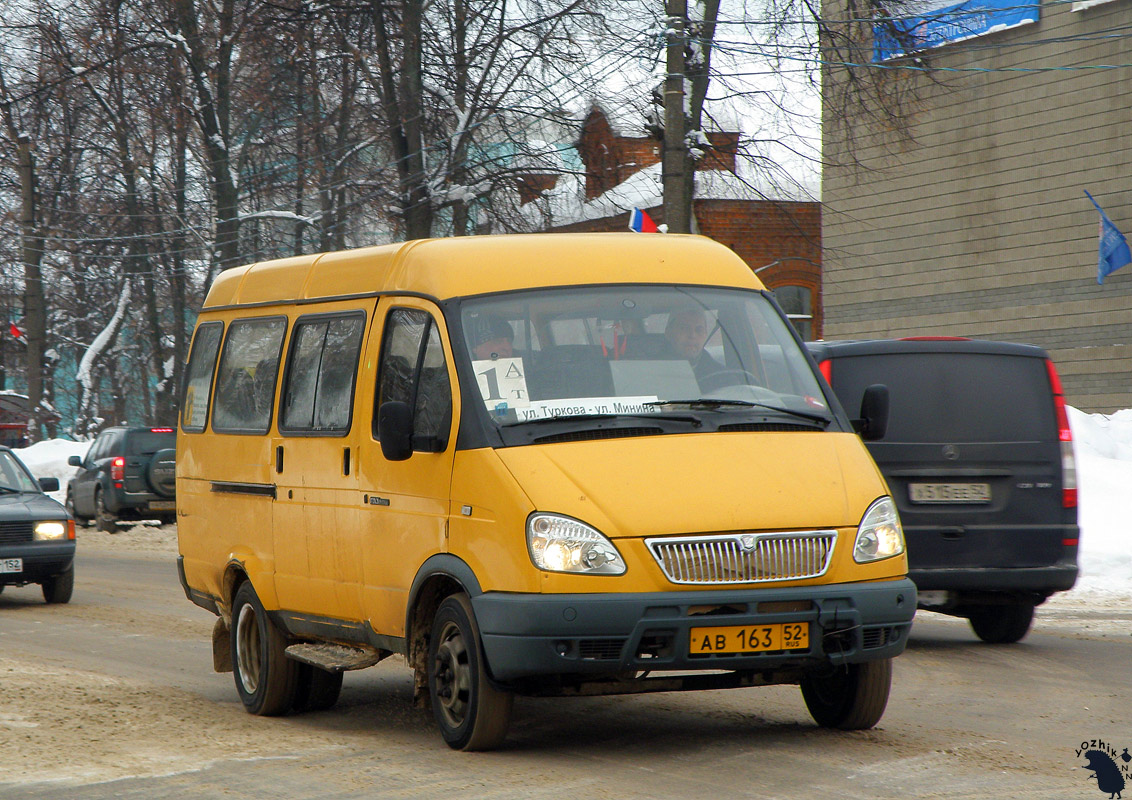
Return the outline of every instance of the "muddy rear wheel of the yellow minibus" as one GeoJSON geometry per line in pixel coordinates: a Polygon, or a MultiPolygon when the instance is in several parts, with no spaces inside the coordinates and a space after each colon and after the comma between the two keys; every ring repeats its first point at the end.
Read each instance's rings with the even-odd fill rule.
{"type": "Polygon", "coordinates": [[[232,601],[232,673],[245,709],[278,716],[291,709],[298,664],[286,657],[288,640],[267,616],[250,580],[240,584],[232,601]]]}

